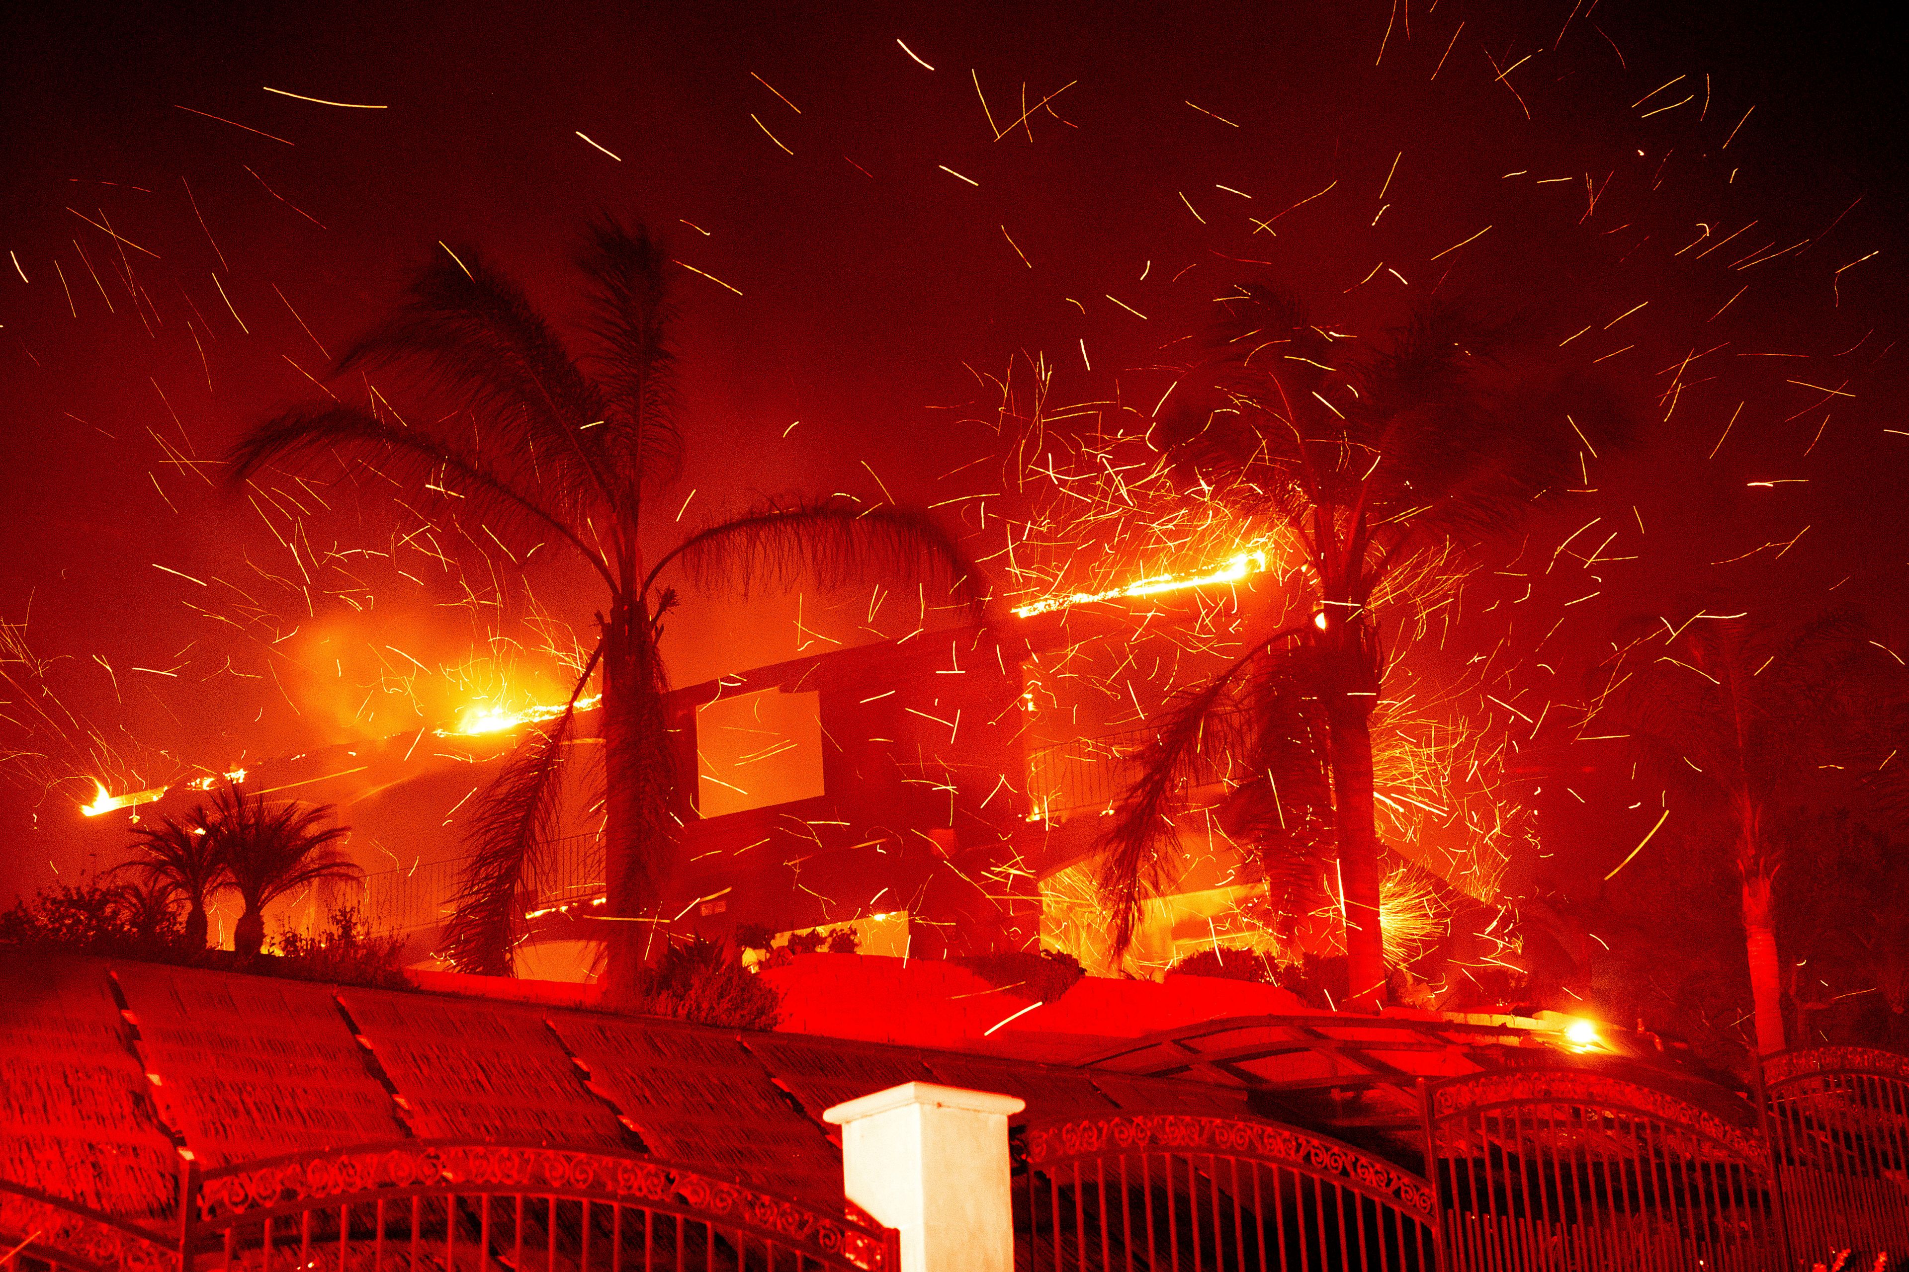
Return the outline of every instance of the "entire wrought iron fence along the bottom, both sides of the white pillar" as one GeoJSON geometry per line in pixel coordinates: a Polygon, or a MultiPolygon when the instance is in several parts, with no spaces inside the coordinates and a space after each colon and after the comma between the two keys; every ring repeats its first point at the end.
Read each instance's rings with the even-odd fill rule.
{"type": "MultiPolygon", "coordinates": [[[[1014,1139],[1019,1272],[1775,1270],[1909,1255],[1909,1058],[1764,1062],[1758,1104],[1596,1068],[1420,1087],[1424,1175],[1264,1119],[1014,1139]]],[[[653,1158],[403,1140],[183,1175],[166,1232],[0,1184],[0,1268],[890,1272],[897,1234],[653,1158]]]]}

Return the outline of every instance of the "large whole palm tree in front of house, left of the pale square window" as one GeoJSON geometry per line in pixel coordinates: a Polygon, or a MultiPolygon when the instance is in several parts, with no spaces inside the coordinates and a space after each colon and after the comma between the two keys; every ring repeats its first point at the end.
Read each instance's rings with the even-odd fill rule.
{"type": "Polygon", "coordinates": [[[676,481],[683,458],[676,307],[668,254],[645,231],[615,221],[592,229],[578,259],[590,320],[577,357],[523,290],[479,252],[433,257],[409,303],[338,360],[340,372],[399,366],[452,416],[405,421],[380,397],[365,406],[323,400],[254,429],[233,450],[242,482],[273,460],[346,452],[384,462],[384,473],[460,507],[567,544],[601,580],[596,648],[567,709],[533,730],[485,793],[472,826],[472,866],[447,934],[466,971],[508,975],[521,933],[521,892],[535,879],[557,816],[557,782],[575,708],[599,677],[603,740],[603,852],[607,992],[640,994],[647,940],[659,919],[678,822],[676,770],[664,725],[668,677],[659,654],[678,568],[691,584],[746,593],[764,578],[821,587],[865,574],[943,572],[964,599],[972,572],[922,513],[865,507],[846,498],[769,503],[710,524],[668,551],[645,540],[649,500],[676,481]]]}

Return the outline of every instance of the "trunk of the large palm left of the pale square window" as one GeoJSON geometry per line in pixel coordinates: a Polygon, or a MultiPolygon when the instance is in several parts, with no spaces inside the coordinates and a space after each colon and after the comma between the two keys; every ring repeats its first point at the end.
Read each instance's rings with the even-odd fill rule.
{"type": "Polygon", "coordinates": [[[636,605],[617,605],[603,641],[603,864],[605,971],[609,1005],[634,1007],[645,963],[662,955],[655,931],[662,879],[670,866],[664,826],[670,774],[661,667],[649,620],[636,605]]]}

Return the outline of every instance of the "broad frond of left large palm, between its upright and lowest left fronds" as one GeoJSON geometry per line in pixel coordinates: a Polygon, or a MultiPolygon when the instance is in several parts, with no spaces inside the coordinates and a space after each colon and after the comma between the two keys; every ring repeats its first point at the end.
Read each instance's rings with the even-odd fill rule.
{"type": "Polygon", "coordinates": [[[338,372],[397,366],[470,410],[567,519],[607,500],[613,463],[592,425],[603,399],[515,282],[472,246],[433,256],[391,317],[346,349],[338,372]]]}

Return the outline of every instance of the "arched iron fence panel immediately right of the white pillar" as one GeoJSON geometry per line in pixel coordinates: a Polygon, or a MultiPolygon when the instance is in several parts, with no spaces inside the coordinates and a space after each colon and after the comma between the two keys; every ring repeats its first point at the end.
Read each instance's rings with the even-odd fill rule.
{"type": "Polygon", "coordinates": [[[1434,1266],[1426,1182],[1310,1131],[1121,1114],[1031,1125],[1017,1158],[1021,1272],[1434,1266]]]}

